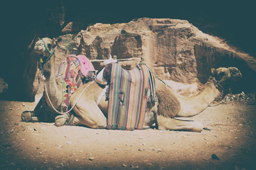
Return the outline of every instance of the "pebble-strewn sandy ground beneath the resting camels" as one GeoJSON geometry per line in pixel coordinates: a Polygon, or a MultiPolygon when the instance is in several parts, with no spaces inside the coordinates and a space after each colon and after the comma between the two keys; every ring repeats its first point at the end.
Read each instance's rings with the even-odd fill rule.
{"type": "Polygon", "coordinates": [[[202,132],[20,122],[33,108],[0,101],[0,169],[256,169],[255,103],[207,108],[190,118],[204,122],[202,132]]]}

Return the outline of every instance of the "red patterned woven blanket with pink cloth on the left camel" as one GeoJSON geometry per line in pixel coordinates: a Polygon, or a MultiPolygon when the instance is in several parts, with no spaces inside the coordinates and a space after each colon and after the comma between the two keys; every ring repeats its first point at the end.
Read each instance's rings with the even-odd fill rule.
{"type": "Polygon", "coordinates": [[[83,83],[83,74],[81,73],[81,67],[86,70],[86,74],[90,74],[91,71],[95,71],[92,65],[92,62],[83,56],[83,61],[86,61],[86,65],[81,63],[80,60],[82,55],[79,55],[79,58],[76,55],[70,55],[66,60],[63,60],[56,69],[56,80],[61,81],[62,83],[62,103],[61,103],[61,112],[68,111],[68,100],[70,96],[76,92],[77,88],[83,83]],[[85,67],[88,66],[88,67],[85,67]]]}

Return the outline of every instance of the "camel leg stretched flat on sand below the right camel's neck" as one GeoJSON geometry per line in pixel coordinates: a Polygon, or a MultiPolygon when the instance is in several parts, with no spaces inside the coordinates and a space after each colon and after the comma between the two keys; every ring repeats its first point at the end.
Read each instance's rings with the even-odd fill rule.
{"type": "Polygon", "coordinates": [[[193,131],[201,132],[204,125],[200,122],[194,122],[189,120],[179,120],[176,118],[166,118],[161,115],[157,115],[158,129],[168,129],[175,131],[193,131]]]}

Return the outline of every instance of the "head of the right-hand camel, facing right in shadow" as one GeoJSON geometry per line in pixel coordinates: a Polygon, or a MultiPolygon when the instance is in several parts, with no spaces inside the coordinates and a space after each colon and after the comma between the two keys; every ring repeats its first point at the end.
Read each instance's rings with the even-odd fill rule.
{"type": "Polygon", "coordinates": [[[217,81],[238,81],[242,77],[242,73],[236,67],[220,67],[211,69],[211,73],[217,81]]]}

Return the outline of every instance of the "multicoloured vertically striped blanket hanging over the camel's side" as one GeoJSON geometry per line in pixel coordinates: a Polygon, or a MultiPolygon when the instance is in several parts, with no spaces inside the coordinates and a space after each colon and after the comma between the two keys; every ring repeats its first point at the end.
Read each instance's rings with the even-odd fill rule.
{"type": "Polygon", "coordinates": [[[154,95],[154,77],[145,64],[126,71],[113,63],[109,85],[107,129],[142,129],[147,102],[154,95]]]}

